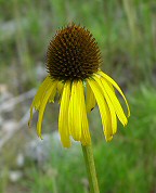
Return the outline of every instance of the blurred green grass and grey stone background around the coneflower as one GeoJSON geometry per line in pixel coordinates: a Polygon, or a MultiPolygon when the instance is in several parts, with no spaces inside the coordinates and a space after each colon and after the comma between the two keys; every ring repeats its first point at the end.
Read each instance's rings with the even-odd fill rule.
{"type": "Polygon", "coordinates": [[[102,68],[125,91],[131,117],[106,143],[98,107],[89,115],[101,193],[156,192],[156,1],[0,0],[0,193],[89,193],[79,143],[57,136],[58,104],[47,107],[41,141],[29,105],[47,76],[49,41],[69,22],[86,26],[102,68]]]}

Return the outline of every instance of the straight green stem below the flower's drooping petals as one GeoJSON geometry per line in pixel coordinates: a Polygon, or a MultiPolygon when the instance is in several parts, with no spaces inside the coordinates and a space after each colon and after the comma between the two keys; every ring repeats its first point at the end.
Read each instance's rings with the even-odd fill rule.
{"type": "Polygon", "coordinates": [[[81,146],[82,146],[83,157],[84,157],[89,183],[90,183],[90,192],[100,193],[92,146],[91,145],[86,145],[86,146],[81,145],[81,146]]]}

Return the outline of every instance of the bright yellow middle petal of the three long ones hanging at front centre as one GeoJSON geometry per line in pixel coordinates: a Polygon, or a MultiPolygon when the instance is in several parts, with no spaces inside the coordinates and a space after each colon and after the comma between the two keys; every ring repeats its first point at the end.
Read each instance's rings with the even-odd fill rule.
{"type": "Polygon", "coordinates": [[[68,110],[68,125],[70,134],[76,141],[81,139],[81,90],[83,89],[82,81],[73,81],[72,95],[68,110]]]}

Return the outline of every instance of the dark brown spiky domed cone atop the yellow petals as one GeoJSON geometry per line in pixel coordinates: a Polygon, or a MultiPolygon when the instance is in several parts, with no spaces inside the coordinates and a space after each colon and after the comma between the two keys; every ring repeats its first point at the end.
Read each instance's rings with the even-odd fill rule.
{"type": "Polygon", "coordinates": [[[47,69],[53,79],[84,80],[98,72],[100,63],[98,43],[84,27],[70,24],[50,41],[47,69]]]}

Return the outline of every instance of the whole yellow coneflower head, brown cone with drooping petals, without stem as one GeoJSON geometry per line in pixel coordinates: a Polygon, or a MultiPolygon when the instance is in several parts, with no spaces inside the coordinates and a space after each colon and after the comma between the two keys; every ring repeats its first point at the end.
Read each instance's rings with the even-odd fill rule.
{"type": "Polygon", "coordinates": [[[39,112],[37,132],[41,138],[43,113],[48,102],[61,95],[58,132],[63,146],[69,147],[70,137],[82,145],[91,143],[87,113],[98,103],[106,141],[117,131],[117,118],[123,126],[130,115],[128,102],[119,86],[100,69],[101,53],[90,31],[75,24],[58,30],[51,40],[47,53],[49,75],[41,83],[30,107],[39,112]],[[128,115],[116,97],[115,89],[123,98],[128,115]]]}

